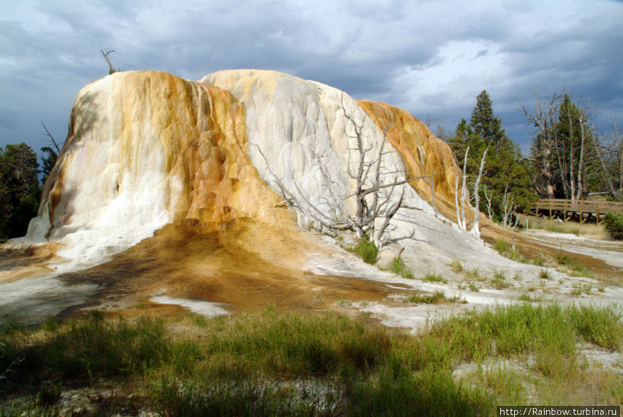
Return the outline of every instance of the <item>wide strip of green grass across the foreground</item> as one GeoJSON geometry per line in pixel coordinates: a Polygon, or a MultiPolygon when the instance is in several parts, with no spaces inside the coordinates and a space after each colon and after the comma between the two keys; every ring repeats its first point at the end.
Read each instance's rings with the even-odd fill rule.
{"type": "Polygon", "coordinates": [[[62,389],[103,385],[118,387],[116,400],[98,402],[92,415],[477,416],[528,399],[620,404],[623,377],[576,359],[577,342],[620,350],[620,318],[615,307],[522,303],[442,317],[416,335],[365,317],[276,308],[3,326],[0,369],[23,361],[5,375],[1,396],[24,401],[0,415],[58,415],[62,389]],[[463,363],[527,357],[527,375],[482,366],[452,374],[463,363]]]}

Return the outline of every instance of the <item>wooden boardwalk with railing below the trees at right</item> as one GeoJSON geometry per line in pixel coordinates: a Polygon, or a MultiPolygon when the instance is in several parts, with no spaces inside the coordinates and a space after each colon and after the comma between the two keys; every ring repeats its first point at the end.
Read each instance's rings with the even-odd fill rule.
{"type": "Polygon", "coordinates": [[[579,220],[580,223],[586,222],[586,220],[601,222],[608,211],[623,214],[623,203],[597,200],[540,199],[530,206],[532,215],[545,214],[549,215],[550,219],[561,218],[565,222],[573,219],[579,220]]]}

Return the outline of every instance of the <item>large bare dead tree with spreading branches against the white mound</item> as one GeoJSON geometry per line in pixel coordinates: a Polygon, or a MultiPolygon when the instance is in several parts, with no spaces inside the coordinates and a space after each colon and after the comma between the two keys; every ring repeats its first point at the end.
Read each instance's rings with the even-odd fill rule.
{"type": "Polygon", "coordinates": [[[315,222],[322,233],[337,236],[339,231],[353,231],[358,238],[369,236],[380,249],[384,243],[385,232],[398,210],[400,208],[417,209],[405,205],[405,189],[402,188],[400,195],[397,195],[398,188],[416,179],[434,177],[439,175],[439,172],[404,178],[404,169],[397,166],[388,168],[383,164],[383,160],[386,159],[385,155],[392,153],[391,150],[387,150],[386,144],[387,132],[393,123],[393,118],[383,130],[383,139],[378,143],[378,149],[375,150],[374,143],[367,143],[369,141],[365,140],[364,124],[367,116],[364,116],[358,123],[346,110],[344,94],[342,94],[341,109],[353,132],[352,134],[346,132],[345,136],[349,150],[347,175],[353,179],[355,189],[347,195],[335,195],[338,179],[331,177],[326,170],[326,161],[324,161],[326,155],[320,154],[313,148],[314,145],[310,145],[309,150],[315,162],[315,169],[319,170],[322,178],[320,185],[326,191],[324,194],[329,196],[322,200],[322,207],[306,196],[305,190],[299,186],[292,170],[290,170],[291,185],[286,185],[286,180],[274,173],[265,154],[259,146],[256,145],[256,147],[265,162],[267,172],[288,206],[297,208],[315,222]],[[389,181],[387,178],[390,178],[389,181]],[[356,202],[353,215],[343,214],[343,204],[347,199],[354,199],[356,202]]]}

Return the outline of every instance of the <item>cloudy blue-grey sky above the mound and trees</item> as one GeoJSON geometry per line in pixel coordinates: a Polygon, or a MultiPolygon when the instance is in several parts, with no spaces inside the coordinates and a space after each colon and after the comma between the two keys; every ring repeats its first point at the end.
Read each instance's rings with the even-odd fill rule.
{"type": "Polygon", "coordinates": [[[623,2],[58,1],[0,3],[0,146],[59,141],[73,99],[123,70],[198,80],[221,69],[274,69],[354,98],[430,116],[453,132],[486,89],[524,152],[518,102],[565,89],[590,99],[595,124],[623,118],[623,2]]]}

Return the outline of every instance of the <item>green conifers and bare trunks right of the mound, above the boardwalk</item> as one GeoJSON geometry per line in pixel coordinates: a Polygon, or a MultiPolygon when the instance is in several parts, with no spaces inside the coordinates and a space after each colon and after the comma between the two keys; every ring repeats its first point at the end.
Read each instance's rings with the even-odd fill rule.
{"type": "Polygon", "coordinates": [[[484,90],[469,121],[463,118],[444,138],[466,182],[478,184],[471,199],[482,213],[508,226],[539,197],[622,199],[623,136],[615,119],[612,134],[597,134],[588,103],[565,92],[535,97],[532,106],[520,103],[520,111],[534,127],[528,157],[502,129],[484,90]]]}

